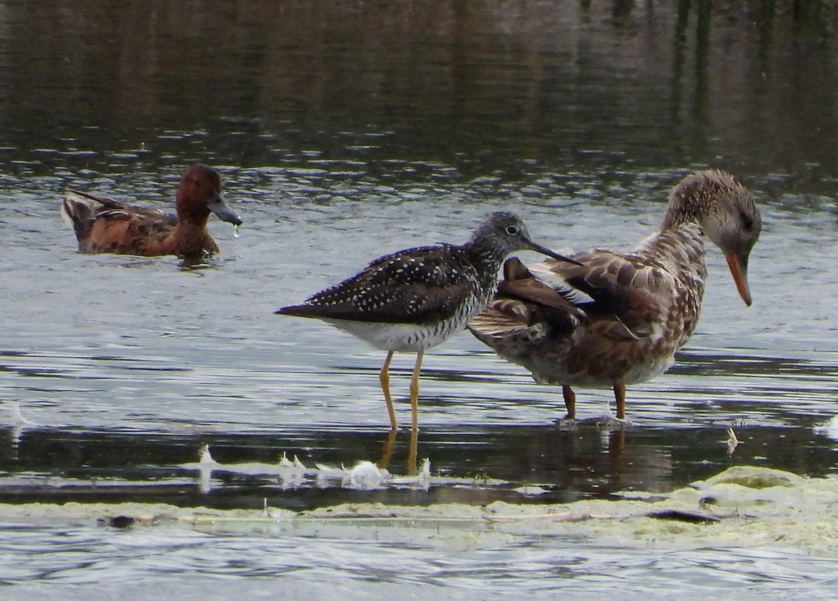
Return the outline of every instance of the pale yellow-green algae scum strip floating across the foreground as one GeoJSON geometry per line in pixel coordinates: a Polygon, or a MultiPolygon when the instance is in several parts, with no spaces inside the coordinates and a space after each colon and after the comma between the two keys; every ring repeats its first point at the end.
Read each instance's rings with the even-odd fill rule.
{"type": "Polygon", "coordinates": [[[367,539],[445,549],[532,537],[611,547],[777,547],[838,557],[838,478],[737,466],[670,493],[555,505],[346,503],[313,511],[215,511],[137,503],[0,506],[0,522],[174,527],[209,532],[367,539]]]}

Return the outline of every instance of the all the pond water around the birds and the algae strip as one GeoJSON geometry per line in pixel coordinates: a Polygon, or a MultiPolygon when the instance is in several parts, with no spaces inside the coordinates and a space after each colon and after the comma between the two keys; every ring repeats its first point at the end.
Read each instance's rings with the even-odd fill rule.
{"type": "MultiPolygon", "coordinates": [[[[702,7],[254,0],[178,13],[157,2],[3,3],[0,501],[539,503],[665,491],[729,465],[835,473],[834,16],[702,7]],[[57,211],[65,188],[167,207],[194,161],[220,170],[246,222],[240,237],[210,223],[221,252],[208,265],[75,253],[57,211]],[[629,388],[627,431],[556,429],[561,391],[463,333],[426,356],[419,456],[435,474],[508,485],[364,492],[232,470],[204,492],[184,467],[202,444],[224,465],[272,464],[283,452],[306,465],[381,455],[382,354],[317,321],[273,315],[279,306],[380,254],[462,241],[499,208],[520,213],[551,248],[630,247],[660,219],[669,187],[706,166],[740,177],[763,210],[754,305],[742,305],[711,249],[696,335],[669,373],[629,388]],[[31,424],[12,428],[14,405],[31,424]],[[730,426],[743,441],[733,455],[730,426]],[[522,495],[520,485],[546,493],[522,495]]],[[[401,424],[411,368],[410,357],[394,360],[401,424]]],[[[579,391],[580,417],[603,414],[609,398],[579,391]]],[[[396,473],[408,438],[396,439],[396,473]]],[[[339,556],[323,557],[334,541],[318,537],[8,525],[3,539],[29,552],[70,542],[72,558],[44,553],[6,580],[47,596],[58,581],[68,585],[62,598],[76,578],[116,586],[78,568],[91,562],[179,596],[184,575],[205,573],[246,580],[256,595],[279,585],[250,577],[285,570],[275,558],[287,547],[318,557],[318,574],[349,598],[416,584],[411,568],[374,584],[342,567],[363,572],[379,553],[464,596],[479,596],[465,582],[484,562],[479,578],[494,592],[544,593],[567,555],[590,568],[569,579],[571,591],[574,582],[604,590],[612,572],[634,593],[662,586],[651,555],[565,541],[499,543],[440,568],[436,551],[387,542],[342,540],[339,556]],[[120,561],[122,544],[156,546],[159,563],[120,561]],[[253,549],[252,573],[214,557],[242,547],[253,549]],[[182,549],[194,555],[173,568],[175,582],[165,566],[182,549]],[[530,563],[538,567],[525,577],[510,575],[530,563]],[[618,570],[627,566],[630,578],[618,570]]],[[[684,575],[678,586],[711,587],[703,566],[716,552],[668,555],[684,575]]],[[[768,572],[794,575],[763,590],[828,584],[819,563],[793,552],[732,553],[741,563],[719,582],[749,582],[742,566],[768,562],[768,572]]],[[[302,583],[316,594],[305,574],[289,590],[302,583]]]]}

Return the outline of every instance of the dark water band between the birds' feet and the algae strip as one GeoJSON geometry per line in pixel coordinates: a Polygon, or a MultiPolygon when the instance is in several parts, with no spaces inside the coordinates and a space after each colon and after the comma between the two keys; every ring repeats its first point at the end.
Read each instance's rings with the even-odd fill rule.
{"type": "MultiPolygon", "coordinates": [[[[838,442],[801,428],[736,427],[742,441],[730,455],[721,428],[634,427],[606,431],[594,424],[489,427],[423,431],[420,453],[432,456],[433,475],[473,479],[472,485],[432,485],[428,491],[388,487],[341,488],[300,478],[289,484],[271,467],[282,454],[304,465],[339,466],[374,458],[380,433],[323,429],[277,436],[119,434],[30,429],[18,439],[8,429],[0,454],[0,502],[148,501],[218,508],[269,506],[311,509],[334,502],[427,505],[438,502],[569,502],[619,491],[670,491],[731,465],[763,465],[799,474],[835,472],[838,442]],[[197,449],[209,444],[220,466],[201,490],[197,449]],[[262,470],[252,465],[261,465],[262,470]],[[13,475],[18,475],[13,477],[13,475]],[[504,483],[487,484],[486,477],[504,483]],[[3,481],[5,480],[5,481],[3,481]],[[541,494],[517,491],[537,485],[541,494]]],[[[405,473],[407,434],[396,444],[391,470],[405,473]]],[[[424,456],[424,455],[422,455],[424,456]]]]}

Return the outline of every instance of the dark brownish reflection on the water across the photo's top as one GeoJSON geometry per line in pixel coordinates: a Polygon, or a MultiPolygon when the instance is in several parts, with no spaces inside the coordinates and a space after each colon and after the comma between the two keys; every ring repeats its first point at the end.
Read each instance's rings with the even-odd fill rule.
{"type": "Polygon", "coordinates": [[[590,171],[590,151],[834,173],[834,15],[758,4],[7,3],[0,144],[39,174],[202,157],[509,177],[590,171]]]}

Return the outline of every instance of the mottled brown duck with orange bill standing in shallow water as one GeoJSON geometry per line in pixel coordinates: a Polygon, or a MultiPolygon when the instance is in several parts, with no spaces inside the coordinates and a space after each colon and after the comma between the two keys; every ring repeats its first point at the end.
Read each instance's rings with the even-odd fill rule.
{"type": "Polygon", "coordinates": [[[691,173],[671,191],[658,231],[634,251],[572,254],[582,265],[509,259],[498,294],[468,329],[537,383],[561,385],[566,419],[576,417],[574,386],[613,388],[624,419],[626,386],[669,369],[696,329],[704,235],[750,306],[747,259],[761,228],[753,198],[731,175],[691,173]]]}

